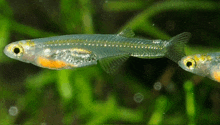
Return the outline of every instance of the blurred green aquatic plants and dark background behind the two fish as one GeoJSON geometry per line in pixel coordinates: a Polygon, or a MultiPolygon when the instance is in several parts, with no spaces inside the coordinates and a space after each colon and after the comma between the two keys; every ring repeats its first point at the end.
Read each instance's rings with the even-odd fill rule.
{"type": "MultiPolygon", "coordinates": [[[[168,40],[190,32],[185,54],[220,51],[218,0],[0,0],[0,124],[220,124],[220,83],[168,58],[129,57],[51,70],[4,54],[11,42],[69,34],[168,40]]],[[[175,53],[174,53],[175,54],[175,53]]]]}

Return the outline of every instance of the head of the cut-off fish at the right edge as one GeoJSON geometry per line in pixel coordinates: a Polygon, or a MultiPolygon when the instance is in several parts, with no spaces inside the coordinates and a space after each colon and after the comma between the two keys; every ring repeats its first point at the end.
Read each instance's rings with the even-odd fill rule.
{"type": "Polygon", "coordinates": [[[209,55],[196,54],[181,58],[178,64],[188,72],[205,77],[210,74],[211,60],[209,55]]]}

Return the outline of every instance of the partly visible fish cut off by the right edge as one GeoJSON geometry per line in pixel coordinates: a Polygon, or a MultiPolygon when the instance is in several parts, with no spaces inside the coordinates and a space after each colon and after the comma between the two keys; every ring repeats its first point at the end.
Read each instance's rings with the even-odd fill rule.
{"type": "Polygon", "coordinates": [[[220,52],[188,55],[178,65],[188,72],[220,82],[220,52]]]}

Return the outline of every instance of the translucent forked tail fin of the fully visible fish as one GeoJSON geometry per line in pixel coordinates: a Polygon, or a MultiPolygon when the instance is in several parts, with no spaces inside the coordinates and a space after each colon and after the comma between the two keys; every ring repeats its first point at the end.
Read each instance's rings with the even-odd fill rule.
{"type": "Polygon", "coordinates": [[[166,57],[170,60],[178,63],[182,57],[185,56],[185,44],[189,41],[191,33],[183,32],[179,35],[174,36],[169,40],[167,47],[166,57]]]}

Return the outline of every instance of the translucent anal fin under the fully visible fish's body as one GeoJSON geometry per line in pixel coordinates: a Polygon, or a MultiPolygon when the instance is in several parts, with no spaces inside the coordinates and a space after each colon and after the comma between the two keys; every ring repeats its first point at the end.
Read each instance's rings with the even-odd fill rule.
{"type": "Polygon", "coordinates": [[[100,66],[109,74],[116,72],[119,67],[129,58],[129,54],[107,57],[99,60],[100,66]]]}

